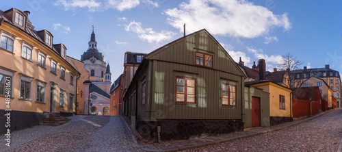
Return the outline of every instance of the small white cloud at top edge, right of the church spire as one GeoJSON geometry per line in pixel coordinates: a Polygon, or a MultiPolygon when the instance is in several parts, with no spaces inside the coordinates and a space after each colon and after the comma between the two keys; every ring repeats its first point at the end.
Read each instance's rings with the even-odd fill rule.
{"type": "Polygon", "coordinates": [[[113,8],[122,12],[123,10],[135,8],[139,4],[139,0],[108,0],[106,6],[107,8],[113,8]]]}

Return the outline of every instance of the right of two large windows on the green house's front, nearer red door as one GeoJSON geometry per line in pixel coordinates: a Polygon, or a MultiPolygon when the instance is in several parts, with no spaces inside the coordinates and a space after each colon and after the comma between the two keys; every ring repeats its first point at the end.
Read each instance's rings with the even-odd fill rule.
{"type": "Polygon", "coordinates": [[[222,105],[236,105],[236,86],[222,84],[222,105]]]}

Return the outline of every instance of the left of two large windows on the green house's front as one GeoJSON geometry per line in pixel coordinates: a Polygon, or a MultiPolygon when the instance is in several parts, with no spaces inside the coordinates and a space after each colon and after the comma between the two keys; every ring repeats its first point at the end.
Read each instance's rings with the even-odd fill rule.
{"type": "Polygon", "coordinates": [[[176,77],[176,102],[196,103],[196,79],[176,77]]]}

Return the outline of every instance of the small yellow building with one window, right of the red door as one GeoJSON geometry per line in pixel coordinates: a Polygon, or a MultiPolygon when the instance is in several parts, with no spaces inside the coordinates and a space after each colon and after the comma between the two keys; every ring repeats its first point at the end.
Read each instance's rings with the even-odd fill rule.
{"type": "Polygon", "coordinates": [[[263,89],[269,93],[269,123],[277,125],[291,121],[291,92],[289,88],[269,80],[251,81],[245,83],[263,89]]]}

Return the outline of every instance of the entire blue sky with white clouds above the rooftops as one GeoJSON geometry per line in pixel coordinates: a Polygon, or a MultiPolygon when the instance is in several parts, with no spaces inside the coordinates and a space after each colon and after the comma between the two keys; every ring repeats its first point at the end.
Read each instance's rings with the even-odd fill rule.
{"type": "Polygon", "coordinates": [[[207,29],[229,55],[246,66],[263,58],[273,71],[281,55],[299,68],[342,70],[342,1],[294,0],[26,0],[5,1],[0,10],[29,10],[37,31],[81,59],[92,25],[98,49],[111,66],[111,81],[123,72],[124,52],[149,53],[186,34],[207,29]]]}

